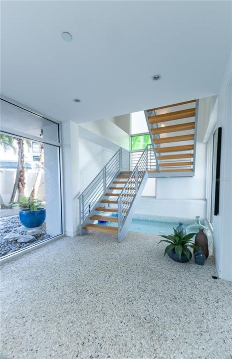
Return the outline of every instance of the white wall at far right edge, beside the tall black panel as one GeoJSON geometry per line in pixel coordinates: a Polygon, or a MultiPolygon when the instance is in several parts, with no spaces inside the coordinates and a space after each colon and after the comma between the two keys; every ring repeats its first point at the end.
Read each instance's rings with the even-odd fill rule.
{"type": "Polygon", "coordinates": [[[219,91],[217,127],[222,127],[222,154],[214,255],[219,276],[232,281],[232,53],[219,91]]]}

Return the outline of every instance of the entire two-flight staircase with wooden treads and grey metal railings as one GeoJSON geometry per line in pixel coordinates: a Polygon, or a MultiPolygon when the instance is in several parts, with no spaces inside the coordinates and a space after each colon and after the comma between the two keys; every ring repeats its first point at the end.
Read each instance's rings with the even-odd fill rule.
{"type": "Polygon", "coordinates": [[[121,242],[148,177],[194,176],[198,101],[144,113],[152,145],[131,154],[120,148],[79,195],[80,235],[110,233],[121,242]]]}

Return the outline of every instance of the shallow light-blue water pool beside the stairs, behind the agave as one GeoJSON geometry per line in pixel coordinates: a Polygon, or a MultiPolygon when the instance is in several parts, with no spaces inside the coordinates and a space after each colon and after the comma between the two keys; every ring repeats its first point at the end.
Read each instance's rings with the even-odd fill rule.
{"type": "MultiPolygon", "coordinates": [[[[193,222],[186,222],[184,223],[184,226],[186,227],[191,223],[193,222]]],[[[173,233],[173,228],[176,228],[178,224],[178,222],[133,219],[129,230],[134,232],[169,235],[173,233]]]]}

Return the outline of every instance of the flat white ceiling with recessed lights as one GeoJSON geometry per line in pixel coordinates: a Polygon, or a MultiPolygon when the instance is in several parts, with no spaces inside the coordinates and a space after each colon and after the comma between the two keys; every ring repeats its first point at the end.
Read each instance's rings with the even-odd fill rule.
{"type": "Polygon", "coordinates": [[[78,123],[217,94],[230,16],[231,1],[1,1],[1,93],[78,123]]]}

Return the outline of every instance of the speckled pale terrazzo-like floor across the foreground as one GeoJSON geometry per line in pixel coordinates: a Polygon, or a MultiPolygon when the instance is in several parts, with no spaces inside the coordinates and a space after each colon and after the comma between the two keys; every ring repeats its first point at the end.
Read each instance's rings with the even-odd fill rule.
{"type": "Polygon", "coordinates": [[[3,359],[232,358],[232,283],[158,236],[63,238],[2,265],[3,359]]]}

